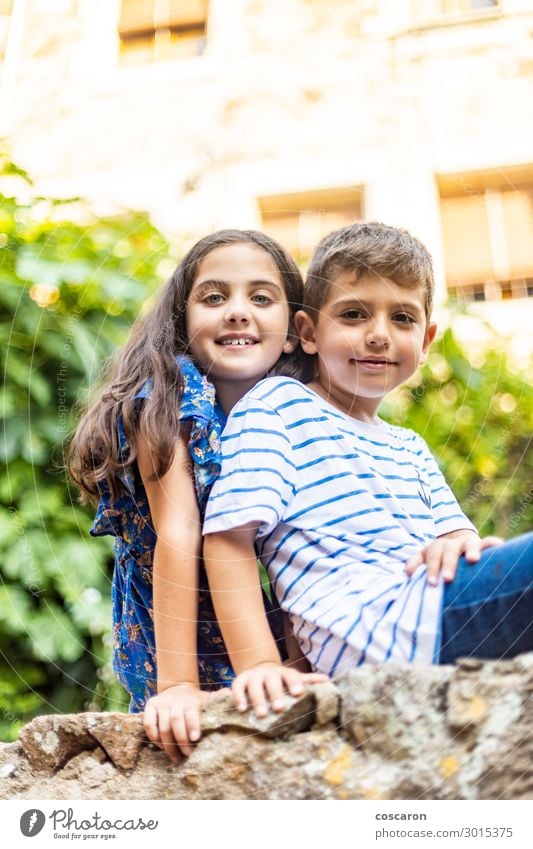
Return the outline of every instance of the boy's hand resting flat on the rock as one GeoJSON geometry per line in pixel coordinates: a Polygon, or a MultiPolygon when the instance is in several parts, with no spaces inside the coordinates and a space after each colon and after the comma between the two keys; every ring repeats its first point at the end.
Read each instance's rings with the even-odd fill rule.
{"type": "Polygon", "coordinates": [[[241,672],[233,682],[233,701],[241,713],[251,707],[261,719],[270,708],[275,713],[283,710],[285,693],[298,697],[302,695],[305,683],[318,684],[327,680],[328,676],[319,672],[298,672],[280,663],[258,663],[241,672]]]}

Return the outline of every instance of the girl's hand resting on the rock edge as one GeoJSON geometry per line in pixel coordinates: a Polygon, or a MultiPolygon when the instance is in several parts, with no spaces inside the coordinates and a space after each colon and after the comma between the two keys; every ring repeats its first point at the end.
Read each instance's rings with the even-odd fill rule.
{"type": "Polygon", "coordinates": [[[168,755],[173,763],[180,763],[179,750],[188,757],[194,743],[200,739],[200,711],[209,698],[192,682],[184,681],[163,690],[146,703],[144,730],[152,743],[168,755]]]}

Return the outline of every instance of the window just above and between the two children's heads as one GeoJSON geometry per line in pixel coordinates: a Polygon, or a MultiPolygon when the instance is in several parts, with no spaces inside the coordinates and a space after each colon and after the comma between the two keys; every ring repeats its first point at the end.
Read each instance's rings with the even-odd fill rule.
{"type": "Polygon", "coordinates": [[[295,259],[309,259],[324,236],[357,221],[362,191],[356,187],[271,195],[259,199],[262,226],[295,259]]]}

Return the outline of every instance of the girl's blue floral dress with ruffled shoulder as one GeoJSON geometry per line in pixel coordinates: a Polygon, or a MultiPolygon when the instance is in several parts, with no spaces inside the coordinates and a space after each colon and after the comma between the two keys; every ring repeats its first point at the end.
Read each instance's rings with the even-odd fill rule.
{"type": "MultiPolygon", "coordinates": [[[[211,486],[220,471],[220,434],[226,416],[207,378],[187,359],[178,364],[183,376],[180,421],[190,425],[189,453],[193,461],[196,495],[203,518],[211,486]]],[[[147,383],[138,398],[149,395],[147,383]]],[[[122,454],[129,447],[119,422],[122,454]]],[[[146,492],[136,464],[122,477],[126,492],[112,502],[105,489],[91,528],[92,536],[115,538],[113,572],[113,669],[131,695],[130,711],[144,710],[157,692],[153,622],[152,568],[156,534],[146,492]]],[[[198,603],[198,668],[203,689],[228,686],[234,674],[218,628],[207,577],[200,567],[198,603]]]]}

